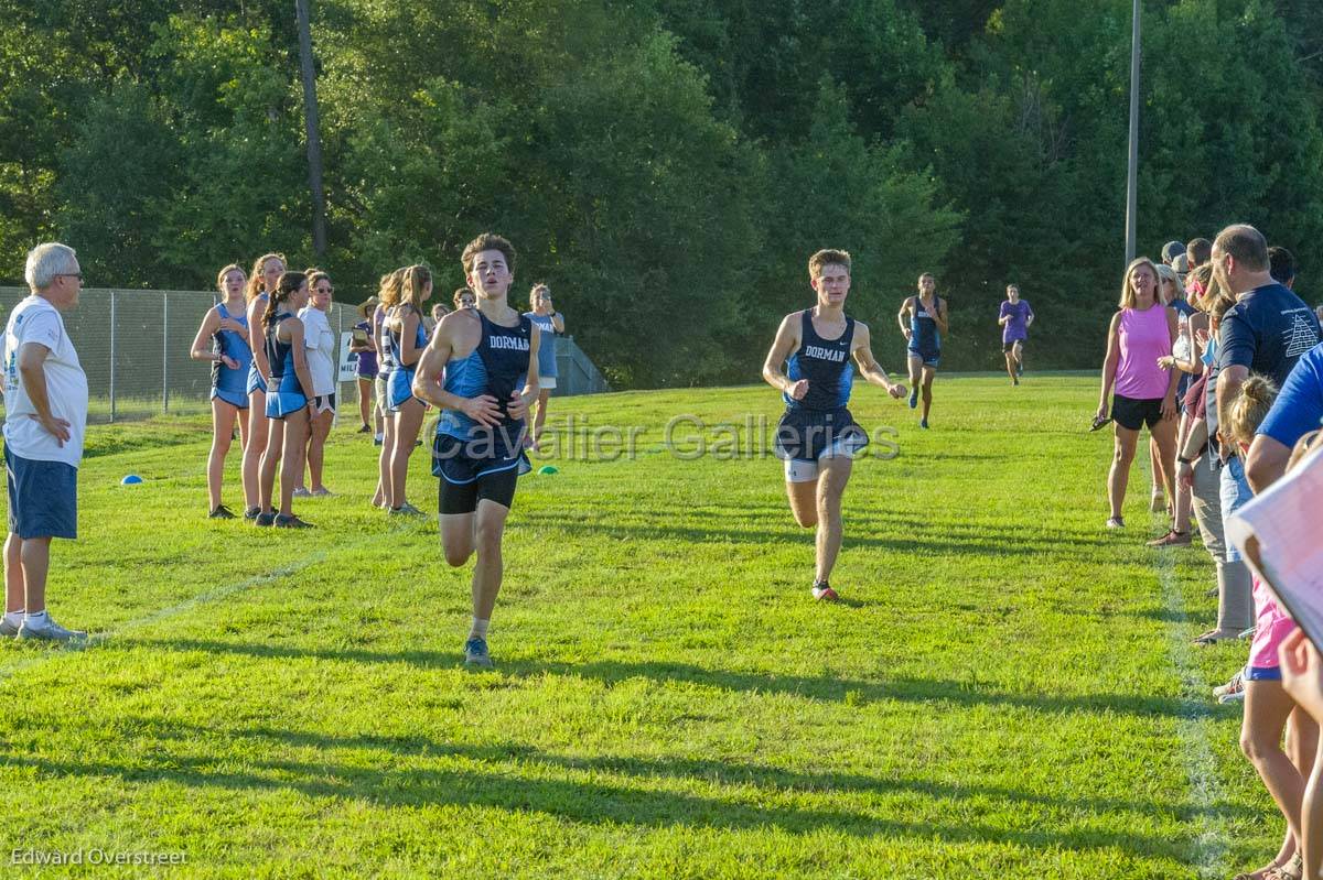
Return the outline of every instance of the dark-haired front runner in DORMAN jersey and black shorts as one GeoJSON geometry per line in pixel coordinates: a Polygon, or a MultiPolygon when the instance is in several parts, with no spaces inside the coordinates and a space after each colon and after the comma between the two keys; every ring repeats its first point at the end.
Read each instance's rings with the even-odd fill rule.
{"type": "Polygon", "coordinates": [[[462,256],[478,308],[441,320],[414,374],[413,394],[442,410],[433,441],[446,562],[474,566],[474,620],[464,663],[491,667],[487,626],[501,583],[501,536],[524,455],[528,404],[537,399],[538,329],[507,301],[515,248],[486,233],[462,256]],[[441,381],[445,375],[445,387],[441,381]]]}

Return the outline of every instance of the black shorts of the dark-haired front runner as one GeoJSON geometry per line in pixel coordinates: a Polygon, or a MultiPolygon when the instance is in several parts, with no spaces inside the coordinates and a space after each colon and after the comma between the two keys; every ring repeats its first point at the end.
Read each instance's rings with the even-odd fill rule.
{"type": "Polygon", "coordinates": [[[472,513],[483,498],[509,507],[520,474],[533,469],[523,437],[523,431],[505,436],[499,429],[472,440],[438,433],[431,441],[431,473],[441,477],[438,510],[472,513]]]}

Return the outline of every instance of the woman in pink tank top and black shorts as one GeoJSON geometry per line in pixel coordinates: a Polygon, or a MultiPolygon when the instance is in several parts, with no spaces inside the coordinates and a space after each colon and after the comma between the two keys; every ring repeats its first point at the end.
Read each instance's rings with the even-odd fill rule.
{"type": "Polygon", "coordinates": [[[1170,498],[1175,497],[1176,472],[1176,383],[1180,374],[1158,363],[1159,358],[1171,354],[1176,341],[1176,312],[1158,299],[1158,267],[1147,256],[1140,256],[1126,270],[1119,307],[1107,330],[1102,395],[1094,420],[1095,424],[1106,423],[1107,399],[1111,398],[1115,449],[1107,473],[1107,499],[1111,503],[1109,529],[1126,525],[1121,509],[1142,427],[1148,425],[1148,433],[1158,441],[1158,464],[1170,498]]]}

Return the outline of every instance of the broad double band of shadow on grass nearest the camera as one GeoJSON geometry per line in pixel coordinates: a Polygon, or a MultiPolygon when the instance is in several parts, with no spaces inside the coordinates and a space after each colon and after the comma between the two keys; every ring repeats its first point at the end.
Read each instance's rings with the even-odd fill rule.
{"type": "MultiPolygon", "coordinates": [[[[139,731],[140,733],[140,731],[139,731]]],[[[832,835],[855,838],[909,838],[946,844],[1011,844],[1035,850],[1122,850],[1140,856],[1185,860],[1188,847],[1166,836],[1143,835],[1113,827],[1080,830],[1016,828],[971,822],[938,823],[904,821],[885,815],[867,814],[857,809],[819,809],[769,803],[777,791],[749,793],[734,790],[729,797],[703,795],[656,788],[635,788],[627,784],[591,778],[610,773],[628,776],[655,785],[659,780],[684,780],[697,784],[718,784],[779,789],[785,794],[861,791],[881,795],[923,794],[934,798],[964,801],[974,797],[1004,798],[1007,809],[1016,803],[1049,805],[1069,811],[1115,814],[1113,809],[1125,802],[1054,801],[1027,795],[1015,790],[980,789],[979,786],[927,785],[914,781],[888,781],[853,774],[800,774],[759,765],[725,765],[716,761],[691,760],[635,760],[590,758],[579,760],[546,754],[527,747],[491,745],[466,747],[437,744],[415,737],[325,737],[259,728],[254,731],[180,729],[177,736],[160,737],[149,760],[134,754],[124,760],[58,760],[30,757],[16,753],[0,754],[9,772],[22,768],[41,774],[78,778],[115,778],[130,785],[168,782],[185,786],[194,793],[201,789],[266,790],[271,793],[298,791],[306,797],[337,801],[368,799],[385,807],[475,806],[500,810],[531,810],[560,819],[589,825],[622,825],[668,828],[675,826],[718,830],[777,828],[787,834],[827,831],[832,835]],[[198,756],[197,751],[208,739],[224,737],[218,754],[198,756]],[[173,739],[180,747],[171,748],[173,739]],[[228,748],[243,737],[255,737],[270,752],[271,741],[291,747],[316,749],[385,749],[394,757],[409,758],[409,766],[400,766],[390,758],[374,760],[368,766],[353,762],[335,762],[327,754],[311,761],[284,758],[218,760],[228,748]],[[419,761],[470,761],[476,768],[417,766],[419,761]],[[242,769],[230,769],[239,764],[242,769]],[[490,766],[488,766],[490,765],[490,766]],[[579,778],[548,778],[558,773],[579,778]],[[583,778],[587,777],[587,778],[583,778]],[[771,797],[769,797],[769,794],[771,797]],[[1097,809],[1095,809],[1097,807],[1097,809]]],[[[233,754],[233,753],[230,753],[233,754]]],[[[876,805],[875,809],[886,809],[876,805]]],[[[1122,807],[1129,809],[1129,807],[1122,807]]],[[[1142,805],[1152,813],[1152,805],[1142,805]]],[[[1160,809],[1166,818],[1183,821],[1192,811],[1183,807],[1160,809]]],[[[1081,817],[1065,817],[1078,822],[1081,817]]],[[[1115,818],[1114,818],[1115,821],[1115,818]]]]}

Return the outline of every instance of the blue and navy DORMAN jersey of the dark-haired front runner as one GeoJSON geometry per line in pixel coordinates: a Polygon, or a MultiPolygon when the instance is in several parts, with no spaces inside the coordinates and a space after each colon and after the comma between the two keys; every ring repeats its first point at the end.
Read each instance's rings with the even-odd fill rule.
{"type": "MultiPolygon", "coordinates": [[[[511,395],[523,388],[528,381],[533,322],[527,314],[520,314],[515,326],[493,324],[482,312],[478,312],[478,317],[483,322],[478,348],[468,357],[446,363],[445,388],[460,398],[476,398],[483,394],[493,396],[501,414],[497,429],[515,437],[523,431],[524,420],[512,419],[505,407],[511,395]]],[[[487,429],[490,428],[480,427],[460,410],[442,410],[437,420],[437,433],[459,440],[472,440],[475,435],[487,429]]]]}

